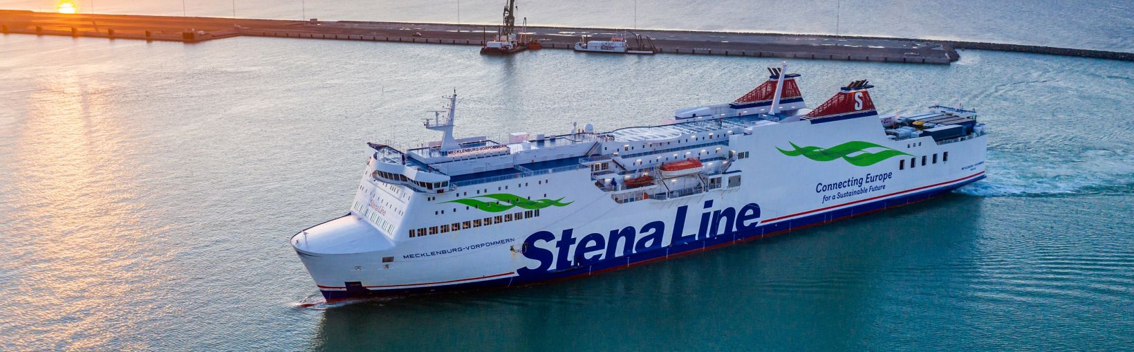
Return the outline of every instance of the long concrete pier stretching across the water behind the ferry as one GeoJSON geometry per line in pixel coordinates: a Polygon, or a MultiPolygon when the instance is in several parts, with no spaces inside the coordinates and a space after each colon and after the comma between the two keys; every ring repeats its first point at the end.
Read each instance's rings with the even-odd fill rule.
{"type": "MultiPolygon", "coordinates": [[[[219,17],[66,15],[0,10],[2,33],[202,42],[239,35],[322,40],[482,45],[494,26],[388,22],[319,22],[219,17]]],[[[624,28],[527,27],[545,49],[572,49],[583,34],[602,40],[624,28]]],[[[948,65],[955,49],[1005,50],[1134,60],[1134,53],[1035,45],[929,41],[917,39],[636,30],[653,39],[659,53],[717,55],[816,60],[948,65]]]]}

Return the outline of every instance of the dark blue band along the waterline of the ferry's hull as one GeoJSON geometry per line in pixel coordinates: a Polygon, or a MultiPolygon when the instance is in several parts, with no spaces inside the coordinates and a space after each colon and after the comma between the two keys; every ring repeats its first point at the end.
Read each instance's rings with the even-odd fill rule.
{"type": "Polygon", "coordinates": [[[330,291],[323,290],[323,297],[328,300],[337,299],[348,299],[356,296],[382,296],[382,295],[409,295],[418,293],[435,293],[445,291],[465,291],[475,288],[489,288],[489,287],[506,287],[515,285],[535,284],[541,282],[558,280],[570,278],[575,276],[585,276],[596,274],[599,271],[613,270],[619,268],[626,268],[633,265],[644,263],[649,261],[655,261],[661,259],[668,259],[669,257],[693,253],[700,250],[705,250],[709,248],[727,245],[746,240],[756,240],[784,232],[789,232],[793,229],[801,229],[804,227],[822,225],[833,220],[839,220],[843,218],[865,215],[874,211],[880,211],[889,208],[902,207],[906,204],[916,203],[924,201],[926,199],[942,195],[951,192],[953,190],[959,188],[964,185],[981,181],[984,178],[984,174],[981,173],[979,176],[960,181],[955,184],[943,185],[937,188],[929,188],[924,191],[902,194],[895,198],[881,199],[873,202],[865,202],[860,204],[854,204],[852,207],[846,207],[841,209],[835,209],[830,211],[815,212],[806,216],[787,219],[778,223],[771,223],[768,225],[758,226],[754,229],[735,232],[730,235],[720,235],[717,237],[694,240],[684,243],[675,243],[668,248],[661,248],[653,251],[633,253],[625,257],[616,257],[607,260],[595,262],[590,266],[573,267],[564,270],[544,271],[538,275],[530,276],[510,276],[502,278],[493,278],[486,280],[480,280],[474,283],[462,283],[452,285],[438,285],[438,286],[426,286],[426,287],[407,287],[407,288],[387,288],[387,290],[366,290],[366,288],[348,288],[347,291],[330,291]]]}

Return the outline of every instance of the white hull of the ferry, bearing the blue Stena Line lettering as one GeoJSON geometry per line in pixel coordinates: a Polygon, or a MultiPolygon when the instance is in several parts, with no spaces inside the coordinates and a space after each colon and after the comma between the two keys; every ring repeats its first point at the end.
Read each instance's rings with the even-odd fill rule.
{"type": "Polygon", "coordinates": [[[472,196],[474,191],[533,200],[561,198],[559,203],[566,204],[540,208],[538,217],[405,241],[375,233],[337,252],[307,250],[322,246],[310,246],[306,241],[333,241],[313,238],[328,236],[319,226],[293,237],[291,243],[328,299],[510,286],[591,275],[824,224],[921,201],[984,177],[985,136],[940,145],[931,137],[890,141],[877,118],[760,126],[751,134],[727,137],[728,148],[751,153],[730,168],[743,175],[739,185],[729,185],[726,178],[720,188],[701,194],[618,203],[592,185],[589,169],[576,169],[458,187],[457,193],[442,193],[429,201],[425,194],[404,185],[364,181],[359,200],[397,203],[404,215],[375,215],[363,204],[356,207],[363,211],[356,209],[329,223],[344,224],[327,232],[349,231],[352,226],[379,232],[361,218],[367,216],[398,224],[382,232],[406,232],[441,221],[434,216],[441,210],[446,223],[524,210],[488,212],[446,203],[472,196]],[[792,144],[826,148],[847,141],[865,141],[913,157],[863,167],[843,159],[815,161],[780,151],[792,144]],[[931,157],[946,152],[948,161],[931,157]],[[923,156],[934,158],[936,164],[922,166],[923,156]],[[908,162],[911,158],[917,166],[899,169],[899,160],[908,162]]]}

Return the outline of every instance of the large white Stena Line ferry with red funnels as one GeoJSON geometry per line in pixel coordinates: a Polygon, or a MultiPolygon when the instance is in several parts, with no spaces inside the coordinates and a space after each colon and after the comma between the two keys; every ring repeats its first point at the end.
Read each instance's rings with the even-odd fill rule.
{"type": "Polygon", "coordinates": [[[900,207],[984,178],[976,112],[880,115],[855,81],[807,109],[797,74],[652,126],[372,151],[350,211],[290,244],[328,301],[595,275],[900,207]],[[501,143],[505,142],[505,143],[501,143]]]}

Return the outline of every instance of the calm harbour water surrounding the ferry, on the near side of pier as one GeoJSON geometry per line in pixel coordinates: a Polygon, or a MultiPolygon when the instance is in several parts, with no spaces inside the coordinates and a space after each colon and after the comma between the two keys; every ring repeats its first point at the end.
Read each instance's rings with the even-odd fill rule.
{"type": "Polygon", "coordinates": [[[788,64],[812,107],[870,79],[883,111],[976,109],[988,178],[594,277],[313,310],[287,238],[348,210],[365,142],[435,140],[421,119],[454,89],[460,135],[603,131],[731,101],[779,61],[2,35],[0,350],[1134,345],[1134,64],[788,64]]]}

